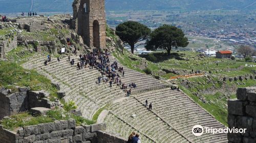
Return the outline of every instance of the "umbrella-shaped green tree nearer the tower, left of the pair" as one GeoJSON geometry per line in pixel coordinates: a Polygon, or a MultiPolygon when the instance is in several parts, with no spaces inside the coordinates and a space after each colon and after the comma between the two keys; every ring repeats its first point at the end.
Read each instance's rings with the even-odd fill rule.
{"type": "Polygon", "coordinates": [[[135,44],[146,40],[150,33],[151,30],[149,28],[136,21],[127,21],[116,27],[116,35],[120,37],[124,44],[130,45],[133,54],[134,49],[141,45],[135,46],[135,44]]]}

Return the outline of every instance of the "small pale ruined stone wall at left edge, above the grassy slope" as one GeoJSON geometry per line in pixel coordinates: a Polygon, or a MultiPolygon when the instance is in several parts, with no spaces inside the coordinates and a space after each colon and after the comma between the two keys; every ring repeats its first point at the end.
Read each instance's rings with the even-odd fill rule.
{"type": "Polygon", "coordinates": [[[6,54],[17,47],[17,36],[13,34],[0,38],[0,59],[4,59],[6,54]]]}

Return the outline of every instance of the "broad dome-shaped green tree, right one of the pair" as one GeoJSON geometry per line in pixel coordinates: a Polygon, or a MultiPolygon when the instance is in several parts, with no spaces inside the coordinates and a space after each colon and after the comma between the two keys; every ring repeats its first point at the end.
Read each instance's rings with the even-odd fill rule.
{"type": "Polygon", "coordinates": [[[183,31],[175,26],[163,25],[150,34],[150,39],[146,42],[147,50],[164,49],[170,56],[172,47],[186,47],[188,39],[183,31]]]}

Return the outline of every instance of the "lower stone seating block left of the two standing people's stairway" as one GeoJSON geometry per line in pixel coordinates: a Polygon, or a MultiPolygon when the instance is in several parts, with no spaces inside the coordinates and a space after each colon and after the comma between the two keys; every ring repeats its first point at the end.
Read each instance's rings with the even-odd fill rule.
{"type": "Polygon", "coordinates": [[[122,118],[136,129],[150,136],[156,142],[188,142],[178,132],[170,129],[162,120],[158,119],[151,111],[148,111],[134,98],[126,99],[110,107],[111,112],[122,118]],[[135,117],[132,115],[135,114],[135,117]]]}

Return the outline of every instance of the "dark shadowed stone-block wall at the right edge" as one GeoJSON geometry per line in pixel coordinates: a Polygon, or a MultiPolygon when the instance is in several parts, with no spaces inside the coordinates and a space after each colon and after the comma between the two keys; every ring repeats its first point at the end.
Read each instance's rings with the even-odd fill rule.
{"type": "Polygon", "coordinates": [[[228,101],[228,127],[246,133],[228,133],[229,143],[256,142],[256,87],[238,88],[237,99],[228,101]]]}

